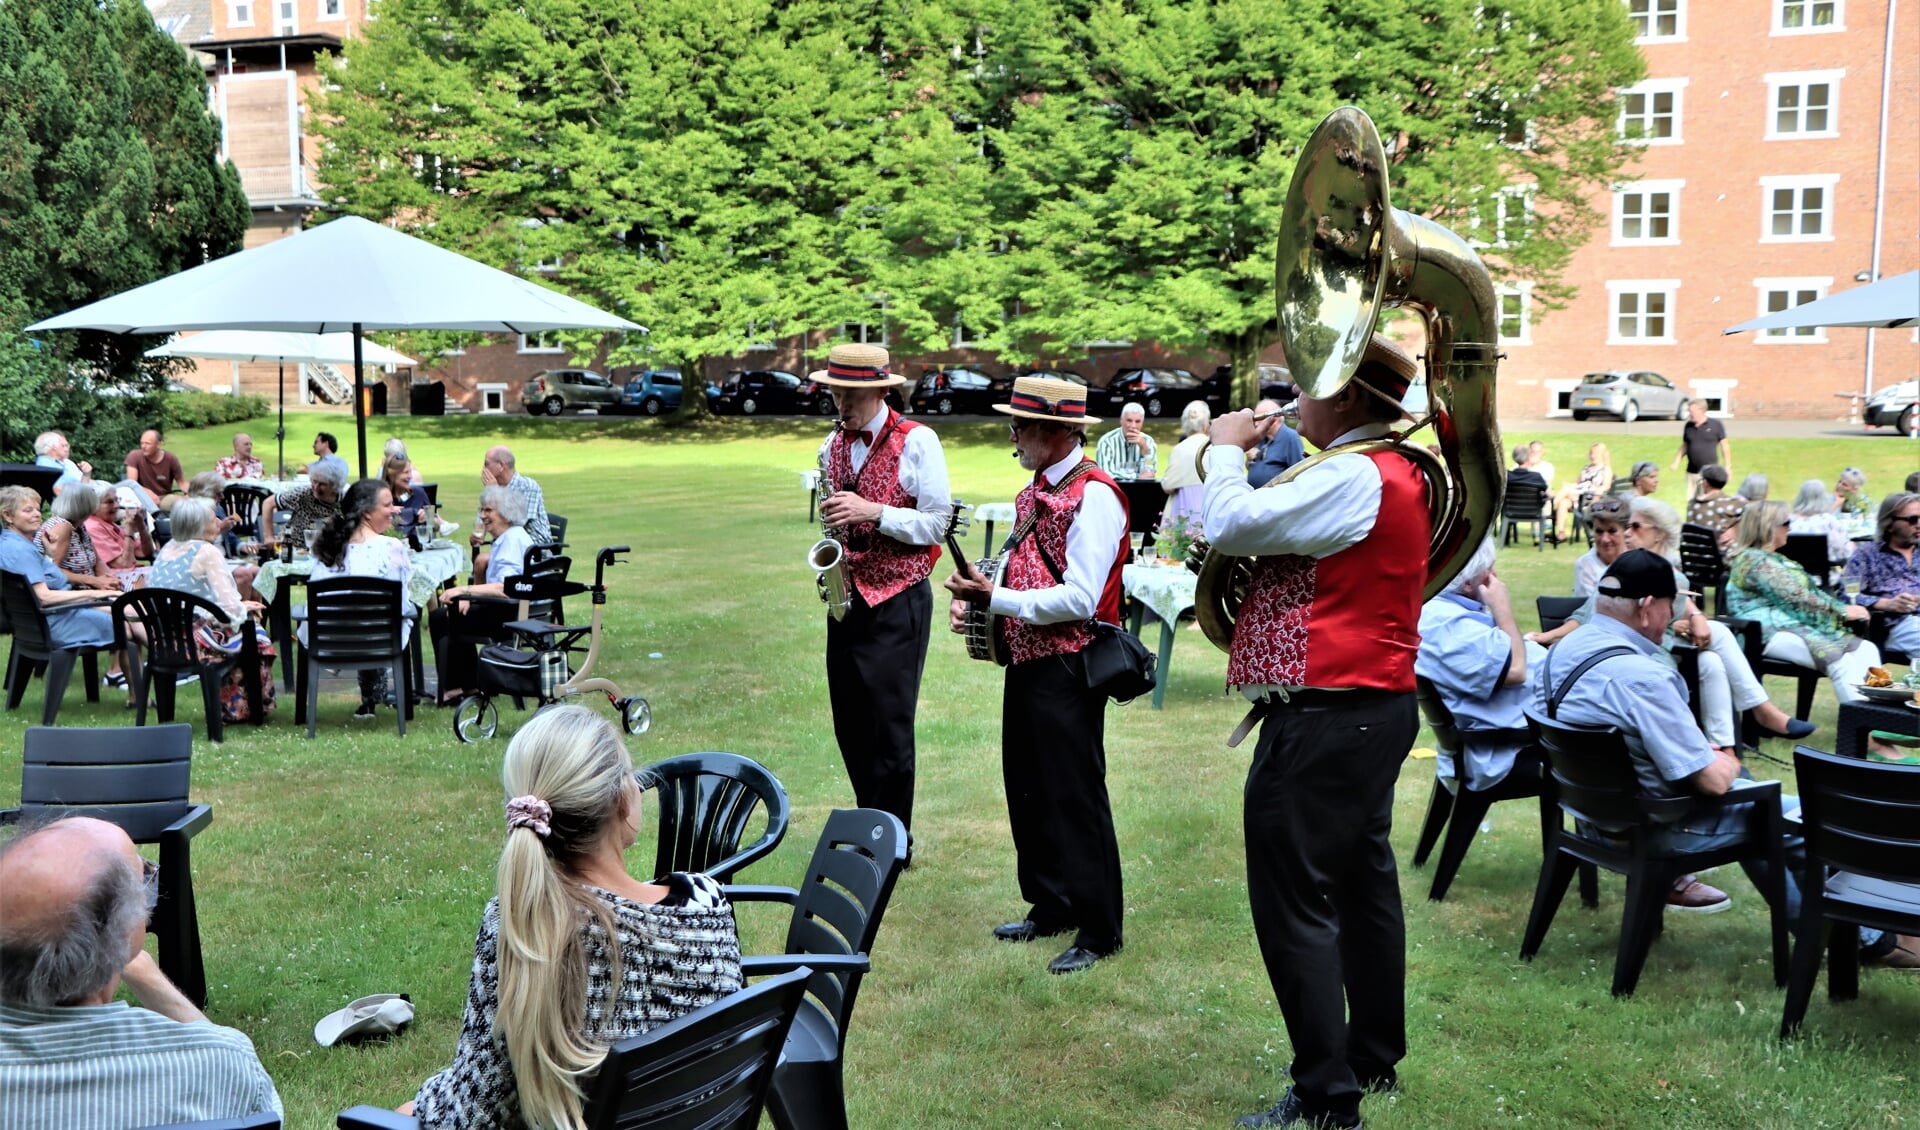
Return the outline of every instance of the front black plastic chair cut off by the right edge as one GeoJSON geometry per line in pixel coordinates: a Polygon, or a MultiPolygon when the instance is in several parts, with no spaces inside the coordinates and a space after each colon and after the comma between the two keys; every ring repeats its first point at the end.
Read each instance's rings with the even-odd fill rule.
{"type": "Polygon", "coordinates": [[[1782,1040],[1807,1019],[1822,948],[1828,1000],[1851,1001],[1860,996],[1860,946],[1851,927],[1920,934],[1920,765],[1882,765],[1797,746],[1793,773],[1807,871],[1782,1040]],[[1847,929],[1834,930],[1830,923],[1847,929]]]}

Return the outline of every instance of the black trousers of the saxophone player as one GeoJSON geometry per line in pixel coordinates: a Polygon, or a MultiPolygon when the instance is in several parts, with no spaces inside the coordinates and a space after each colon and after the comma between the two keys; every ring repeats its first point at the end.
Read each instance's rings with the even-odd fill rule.
{"type": "Polygon", "coordinates": [[[828,618],[828,698],[833,739],[860,808],[914,827],[914,710],[927,666],[933,587],[910,585],[870,606],[849,591],[845,620],[828,618]]]}

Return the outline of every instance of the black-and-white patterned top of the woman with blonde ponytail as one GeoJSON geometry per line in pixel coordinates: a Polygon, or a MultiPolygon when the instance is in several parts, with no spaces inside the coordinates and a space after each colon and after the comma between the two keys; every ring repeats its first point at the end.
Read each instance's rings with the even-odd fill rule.
{"type": "MultiPolygon", "coordinates": [[[[580,1026],[612,1044],[739,992],[739,934],[733,907],[707,875],[672,873],[668,896],[643,906],[589,886],[612,911],[620,944],[620,984],[612,982],[607,934],[588,919],[588,1000],[580,1026]]],[[[507,1040],[493,1028],[499,1009],[499,900],[488,900],[474,940],[474,973],[453,1065],[420,1086],[420,1126],[518,1130],[520,1094],[507,1040]]]]}

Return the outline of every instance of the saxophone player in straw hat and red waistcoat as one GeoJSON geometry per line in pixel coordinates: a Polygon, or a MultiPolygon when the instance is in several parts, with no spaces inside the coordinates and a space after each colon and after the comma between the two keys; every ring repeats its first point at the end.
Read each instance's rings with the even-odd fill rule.
{"type": "MultiPolygon", "coordinates": [[[[829,386],[839,424],[820,445],[820,520],[845,543],[847,612],[828,618],[833,739],[860,808],[900,817],[912,835],[914,710],[927,662],[927,577],[952,503],[933,428],[887,407],[906,384],[877,345],[835,345],[812,380],[829,386]]],[[[912,840],[908,840],[912,842],[912,840]]]]}

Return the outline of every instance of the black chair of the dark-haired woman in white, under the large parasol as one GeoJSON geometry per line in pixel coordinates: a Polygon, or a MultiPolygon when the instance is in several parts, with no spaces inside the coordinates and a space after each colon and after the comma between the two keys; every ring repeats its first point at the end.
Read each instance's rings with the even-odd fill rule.
{"type": "Polygon", "coordinates": [[[413,666],[401,643],[407,593],[386,577],[326,577],[307,581],[307,643],[300,648],[294,677],[294,721],[307,723],[311,739],[319,725],[321,668],[386,668],[394,681],[394,718],[399,737],[407,737],[413,716],[413,666]]]}

